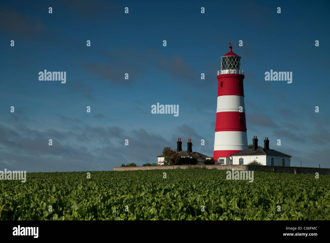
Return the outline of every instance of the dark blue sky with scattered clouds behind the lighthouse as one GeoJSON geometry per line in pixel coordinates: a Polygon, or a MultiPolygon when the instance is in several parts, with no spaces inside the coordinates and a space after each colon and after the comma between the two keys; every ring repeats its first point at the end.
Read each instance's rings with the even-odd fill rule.
{"type": "Polygon", "coordinates": [[[183,149],[191,139],[193,151],[212,156],[216,72],[229,41],[245,70],[248,143],[268,137],[291,166],[330,168],[328,9],[328,1],[0,3],[0,168],[142,165],[179,137],[183,149]],[[66,83],[39,81],[44,69],[66,71],[66,83]],[[292,83],[265,81],[271,69],[292,71],[292,83]],[[179,116],[151,114],[157,102],[178,104],[179,116]]]}

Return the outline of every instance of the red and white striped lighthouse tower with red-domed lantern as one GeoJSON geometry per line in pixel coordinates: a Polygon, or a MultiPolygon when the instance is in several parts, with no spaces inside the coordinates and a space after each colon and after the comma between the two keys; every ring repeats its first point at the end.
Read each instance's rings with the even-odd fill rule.
{"type": "Polygon", "coordinates": [[[218,164],[232,164],[231,154],[248,149],[245,121],[244,71],[241,57],[229,52],[221,57],[218,70],[218,95],[213,158],[218,164]]]}

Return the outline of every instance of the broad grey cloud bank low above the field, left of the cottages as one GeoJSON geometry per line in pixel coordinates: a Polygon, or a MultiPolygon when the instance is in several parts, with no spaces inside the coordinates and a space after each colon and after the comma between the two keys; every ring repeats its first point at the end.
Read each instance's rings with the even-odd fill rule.
{"type": "Polygon", "coordinates": [[[167,144],[162,136],[142,128],[126,132],[117,126],[76,125],[72,131],[41,131],[0,123],[0,168],[28,172],[112,170],[121,163],[155,162],[167,144]],[[129,146],[125,146],[125,139],[129,146]]]}

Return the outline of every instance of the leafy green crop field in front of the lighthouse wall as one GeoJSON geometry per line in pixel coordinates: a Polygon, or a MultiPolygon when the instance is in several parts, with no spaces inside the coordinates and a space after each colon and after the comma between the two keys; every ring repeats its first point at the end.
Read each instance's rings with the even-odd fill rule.
{"type": "Polygon", "coordinates": [[[255,171],[250,183],[201,168],[86,173],[1,180],[0,219],[330,220],[328,175],[255,171]]]}

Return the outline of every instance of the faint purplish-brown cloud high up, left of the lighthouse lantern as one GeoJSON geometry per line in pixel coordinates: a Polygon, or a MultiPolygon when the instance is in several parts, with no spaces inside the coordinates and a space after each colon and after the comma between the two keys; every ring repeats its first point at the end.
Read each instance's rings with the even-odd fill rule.
{"type": "Polygon", "coordinates": [[[147,67],[150,66],[174,78],[180,78],[182,82],[187,80],[196,82],[196,77],[200,77],[200,74],[196,73],[182,56],[174,53],[167,56],[155,49],[138,51],[129,47],[113,51],[102,50],[99,54],[107,58],[107,61],[81,61],[82,66],[102,79],[112,84],[120,84],[120,86],[129,86],[135,80],[142,79],[147,75],[147,67]],[[128,73],[128,80],[124,79],[125,73],[128,73]]]}

